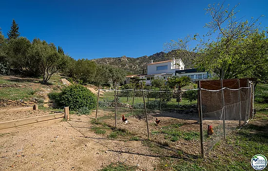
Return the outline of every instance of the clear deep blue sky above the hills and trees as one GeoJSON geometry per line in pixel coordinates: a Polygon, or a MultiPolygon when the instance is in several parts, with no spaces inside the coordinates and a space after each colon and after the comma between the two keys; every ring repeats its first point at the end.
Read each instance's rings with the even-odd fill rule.
{"type": "MultiPolygon", "coordinates": [[[[1,0],[0,27],[6,36],[14,18],[21,36],[61,46],[75,59],[140,57],[163,51],[163,44],[187,34],[204,34],[214,0],[1,0]]],[[[245,19],[261,15],[268,27],[268,0],[240,3],[245,19]]]]}

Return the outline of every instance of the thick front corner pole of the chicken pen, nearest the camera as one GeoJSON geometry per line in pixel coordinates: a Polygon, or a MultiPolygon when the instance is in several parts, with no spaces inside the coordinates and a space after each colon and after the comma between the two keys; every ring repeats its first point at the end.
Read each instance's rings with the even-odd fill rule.
{"type": "Polygon", "coordinates": [[[203,137],[203,113],[202,113],[200,81],[198,81],[197,88],[198,88],[198,97],[197,97],[198,100],[197,100],[197,103],[198,103],[198,113],[199,113],[201,155],[202,155],[202,158],[205,158],[205,154],[204,154],[204,137],[203,137]]]}

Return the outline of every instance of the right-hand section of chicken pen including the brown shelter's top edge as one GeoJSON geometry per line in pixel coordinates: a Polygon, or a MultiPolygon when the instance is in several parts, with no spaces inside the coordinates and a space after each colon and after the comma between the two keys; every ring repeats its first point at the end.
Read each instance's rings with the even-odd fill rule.
{"type": "Polygon", "coordinates": [[[225,138],[228,133],[246,124],[253,117],[253,81],[255,79],[251,78],[198,83],[200,140],[203,155],[208,153],[221,138],[225,138]],[[212,125],[214,132],[212,138],[206,138],[208,133],[205,130],[208,130],[209,125],[212,125]]]}

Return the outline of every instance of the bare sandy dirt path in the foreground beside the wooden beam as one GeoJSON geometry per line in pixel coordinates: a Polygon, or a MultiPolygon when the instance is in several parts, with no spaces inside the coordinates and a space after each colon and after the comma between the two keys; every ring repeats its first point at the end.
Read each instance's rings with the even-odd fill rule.
{"type": "Polygon", "coordinates": [[[71,115],[71,120],[0,135],[0,170],[96,171],[119,161],[151,171],[157,165],[158,157],[141,141],[96,135],[91,117],[71,115]]]}

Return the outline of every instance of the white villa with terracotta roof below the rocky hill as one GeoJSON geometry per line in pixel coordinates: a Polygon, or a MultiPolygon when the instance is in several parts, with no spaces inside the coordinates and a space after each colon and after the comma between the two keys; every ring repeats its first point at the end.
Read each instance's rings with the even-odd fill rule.
{"type": "Polygon", "coordinates": [[[207,79],[209,74],[205,71],[197,71],[194,69],[184,69],[185,65],[181,59],[175,60],[173,58],[169,61],[154,62],[151,60],[150,64],[147,64],[147,74],[129,75],[126,77],[125,84],[130,84],[131,79],[140,78],[145,79],[146,85],[151,85],[151,80],[154,78],[163,78],[168,80],[172,76],[188,76],[192,81],[207,79]]]}

